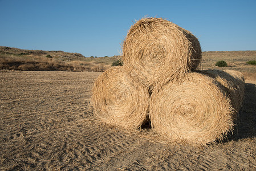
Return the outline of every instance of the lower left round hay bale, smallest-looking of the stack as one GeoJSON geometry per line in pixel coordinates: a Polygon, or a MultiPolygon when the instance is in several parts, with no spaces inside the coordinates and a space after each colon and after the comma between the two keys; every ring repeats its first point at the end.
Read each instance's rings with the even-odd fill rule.
{"type": "Polygon", "coordinates": [[[123,67],[109,68],[96,79],[91,101],[96,116],[115,127],[136,129],[148,116],[148,88],[133,81],[123,67]]]}

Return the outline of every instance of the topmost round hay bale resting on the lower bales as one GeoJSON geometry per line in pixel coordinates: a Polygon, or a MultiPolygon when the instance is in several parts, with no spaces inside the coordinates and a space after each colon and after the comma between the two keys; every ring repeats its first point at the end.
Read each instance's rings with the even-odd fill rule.
{"type": "Polygon", "coordinates": [[[123,62],[146,86],[164,84],[197,68],[198,39],[188,30],[161,18],[142,18],[123,42],[123,62]]]}

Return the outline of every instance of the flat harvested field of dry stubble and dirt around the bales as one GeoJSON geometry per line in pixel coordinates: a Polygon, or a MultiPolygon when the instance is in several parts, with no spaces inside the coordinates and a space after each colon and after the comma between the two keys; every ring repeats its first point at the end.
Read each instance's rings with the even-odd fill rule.
{"type": "Polygon", "coordinates": [[[99,123],[96,72],[0,72],[1,170],[256,170],[256,86],[228,140],[193,147],[99,123]]]}

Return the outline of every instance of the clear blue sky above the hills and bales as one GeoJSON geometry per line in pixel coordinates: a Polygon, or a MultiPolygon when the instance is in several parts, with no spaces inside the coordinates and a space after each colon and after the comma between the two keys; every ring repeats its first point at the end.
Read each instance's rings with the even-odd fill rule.
{"type": "Polygon", "coordinates": [[[0,0],[0,46],[119,55],[129,27],[145,15],[191,31],[202,51],[256,50],[255,0],[0,0]]]}

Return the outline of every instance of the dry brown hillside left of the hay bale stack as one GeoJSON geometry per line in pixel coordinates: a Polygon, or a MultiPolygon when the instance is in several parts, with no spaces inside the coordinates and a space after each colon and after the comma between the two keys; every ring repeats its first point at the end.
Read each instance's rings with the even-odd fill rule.
{"type": "Polygon", "coordinates": [[[86,58],[64,51],[23,50],[0,46],[0,70],[23,71],[95,71],[111,67],[119,56],[86,58]]]}

